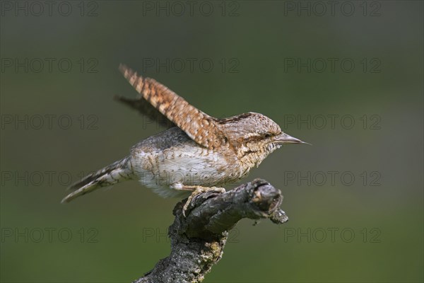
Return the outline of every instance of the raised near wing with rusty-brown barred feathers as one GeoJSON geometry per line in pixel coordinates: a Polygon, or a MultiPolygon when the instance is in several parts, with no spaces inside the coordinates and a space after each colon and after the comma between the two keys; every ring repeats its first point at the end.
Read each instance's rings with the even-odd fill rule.
{"type": "Polygon", "coordinates": [[[225,137],[218,128],[217,120],[190,105],[184,98],[154,79],[144,78],[125,65],[119,71],[144,99],[160,113],[182,129],[201,146],[214,149],[225,143],[225,137]]]}

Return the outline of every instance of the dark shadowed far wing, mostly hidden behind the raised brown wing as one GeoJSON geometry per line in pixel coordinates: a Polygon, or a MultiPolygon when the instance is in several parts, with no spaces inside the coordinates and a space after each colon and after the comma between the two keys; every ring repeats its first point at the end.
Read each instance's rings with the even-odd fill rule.
{"type": "Polygon", "coordinates": [[[138,110],[141,115],[148,117],[151,121],[156,122],[167,129],[176,126],[143,97],[133,99],[125,98],[124,96],[115,96],[114,99],[124,103],[125,105],[129,105],[129,107],[134,108],[135,110],[138,110]]]}

